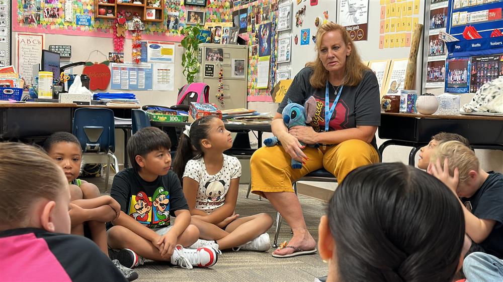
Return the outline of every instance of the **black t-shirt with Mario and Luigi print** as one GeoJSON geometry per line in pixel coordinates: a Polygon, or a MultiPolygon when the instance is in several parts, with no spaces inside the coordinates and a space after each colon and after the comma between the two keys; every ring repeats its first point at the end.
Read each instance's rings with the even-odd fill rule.
{"type": "Polygon", "coordinates": [[[149,228],[170,225],[170,214],[188,210],[178,176],[169,171],[166,175],[148,182],[132,168],[114,177],[110,196],[121,205],[121,210],[149,228]]]}

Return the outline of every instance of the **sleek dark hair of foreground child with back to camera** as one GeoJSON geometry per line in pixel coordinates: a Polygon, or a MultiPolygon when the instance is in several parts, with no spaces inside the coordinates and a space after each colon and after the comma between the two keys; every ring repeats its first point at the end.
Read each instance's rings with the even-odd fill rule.
{"type": "Polygon", "coordinates": [[[435,177],[401,163],[352,171],[328,205],[341,281],[450,281],[463,210],[435,177]]]}

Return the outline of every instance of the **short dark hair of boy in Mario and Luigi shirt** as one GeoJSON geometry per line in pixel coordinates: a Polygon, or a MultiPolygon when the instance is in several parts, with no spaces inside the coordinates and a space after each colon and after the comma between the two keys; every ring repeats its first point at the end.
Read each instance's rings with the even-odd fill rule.
{"type": "Polygon", "coordinates": [[[127,142],[127,154],[135,171],[140,170],[140,166],[136,163],[136,156],[145,158],[148,153],[161,149],[170,150],[171,140],[166,132],[157,127],[141,128],[127,142]]]}

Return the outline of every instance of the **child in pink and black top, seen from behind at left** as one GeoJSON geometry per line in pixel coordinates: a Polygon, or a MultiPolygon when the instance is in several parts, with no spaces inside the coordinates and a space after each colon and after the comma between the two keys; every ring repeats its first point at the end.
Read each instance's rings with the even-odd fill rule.
{"type": "Polygon", "coordinates": [[[70,233],[61,168],[41,150],[0,143],[0,281],[126,281],[98,246],[70,233]],[[29,172],[29,177],[27,177],[29,172]]]}

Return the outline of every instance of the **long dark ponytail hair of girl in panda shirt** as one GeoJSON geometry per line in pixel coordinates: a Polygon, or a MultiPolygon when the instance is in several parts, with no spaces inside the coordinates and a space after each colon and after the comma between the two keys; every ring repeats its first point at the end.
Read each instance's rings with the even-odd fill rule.
{"type": "Polygon", "coordinates": [[[190,138],[185,134],[180,136],[177,155],[175,156],[175,161],[173,162],[173,171],[178,175],[180,182],[182,182],[187,162],[193,158],[203,157],[201,140],[208,138],[208,133],[211,129],[210,123],[214,118],[217,117],[209,115],[196,119],[192,122],[190,127],[190,138]]]}

